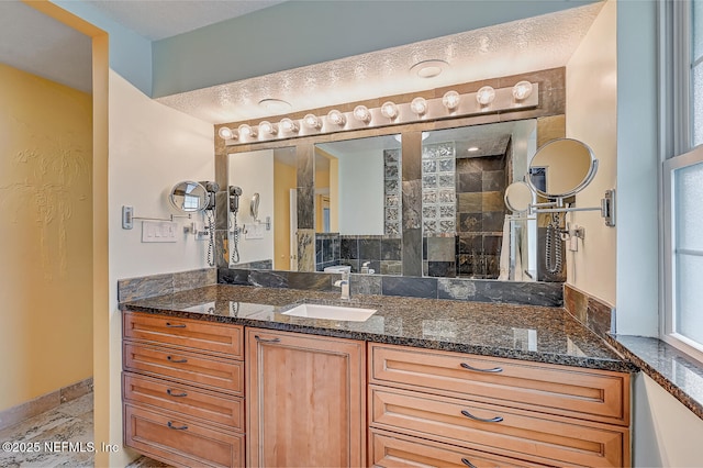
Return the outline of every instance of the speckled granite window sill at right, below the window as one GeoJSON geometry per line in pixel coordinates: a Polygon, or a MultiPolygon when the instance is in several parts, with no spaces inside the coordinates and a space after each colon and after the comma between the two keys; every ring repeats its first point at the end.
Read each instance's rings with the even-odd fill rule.
{"type": "Polygon", "coordinates": [[[703,367],[659,338],[609,335],[607,342],[703,420],[703,367]]]}

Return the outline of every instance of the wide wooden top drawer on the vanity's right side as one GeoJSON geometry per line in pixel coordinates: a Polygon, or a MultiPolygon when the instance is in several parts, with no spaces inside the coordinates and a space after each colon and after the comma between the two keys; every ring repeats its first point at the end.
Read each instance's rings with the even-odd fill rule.
{"type": "Polygon", "coordinates": [[[369,345],[372,383],[629,425],[629,375],[369,345]]]}

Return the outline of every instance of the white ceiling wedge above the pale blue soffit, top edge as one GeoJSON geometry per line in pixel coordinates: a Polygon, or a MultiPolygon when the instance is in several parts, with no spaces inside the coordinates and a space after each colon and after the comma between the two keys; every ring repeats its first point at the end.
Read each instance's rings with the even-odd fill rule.
{"type": "Polygon", "coordinates": [[[107,16],[150,41],[242,16],[286,0],[87,0],[107,16]]]}

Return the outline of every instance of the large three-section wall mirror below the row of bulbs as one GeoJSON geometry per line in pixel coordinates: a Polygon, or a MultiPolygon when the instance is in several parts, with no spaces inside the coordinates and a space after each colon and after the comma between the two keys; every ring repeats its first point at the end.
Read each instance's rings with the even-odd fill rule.
{"type": "Polygon", "coordinates": [[[403,248],[402,134],[230,154],[228,183],[245,201],[259,193],[261,212],[272,213],[271,231],[258,236],[252,215],[238,213],[242,233],[228,237],[239,261],[230,267],[405,275],[403,254],[416,253],[422,276],[544,279],[537,220],[511,215],[504,203],[537,149],[538,120],[423,131],[420,142],[421,190],[410,194],[422,219],[415,249],[403,248]],[[305,172],[314,175],[312,204],[298,197],[305,172]],[[298,216],[314,220],[309,253],[298,216]]]}

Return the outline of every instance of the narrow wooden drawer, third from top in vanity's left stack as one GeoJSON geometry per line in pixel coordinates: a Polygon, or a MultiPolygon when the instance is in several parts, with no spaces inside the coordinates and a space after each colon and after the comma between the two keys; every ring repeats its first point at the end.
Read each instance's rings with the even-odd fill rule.
{"type": "Polygon", "coordinates": [[[153,405],[244,432],[244,401],[238,397],[222,398],[214,392],[130,372],[122,375],[122,395],[131,403],[153,405]]]}

